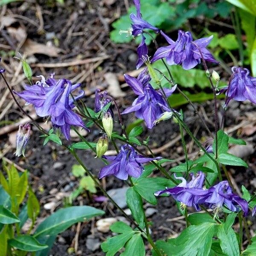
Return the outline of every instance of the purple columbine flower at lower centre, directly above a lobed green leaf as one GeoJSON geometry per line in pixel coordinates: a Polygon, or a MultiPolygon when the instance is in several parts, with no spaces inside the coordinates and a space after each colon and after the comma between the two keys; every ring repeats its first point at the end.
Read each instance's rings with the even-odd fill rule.
{"type": "Polygon", "coordinates": [[[99,178],[114,175],[120,180],[127,180],[128,176],[138,178],[144,171],[143,163],[159,160],[161,157],[149,158],[137,154],[131,145],[125,144],[117,156],[103,156],[111,163],[100,170],[99,178]]]}

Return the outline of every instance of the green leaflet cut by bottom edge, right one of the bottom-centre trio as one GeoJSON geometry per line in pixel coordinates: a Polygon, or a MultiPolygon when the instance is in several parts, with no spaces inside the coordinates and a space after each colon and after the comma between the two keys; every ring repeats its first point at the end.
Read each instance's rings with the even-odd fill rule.
{"type": "Polygon", "coordinates": [[[120,256],[145,256],[145,247],[141,235],[135,234],[125,245],[125,251],[120,256]]]}

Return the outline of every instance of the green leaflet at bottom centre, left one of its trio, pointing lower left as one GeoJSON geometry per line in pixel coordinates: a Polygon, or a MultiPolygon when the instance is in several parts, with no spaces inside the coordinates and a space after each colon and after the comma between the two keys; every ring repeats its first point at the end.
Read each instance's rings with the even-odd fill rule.
{"type": "Polygon", "coordinates": [[[131,231],[123,233],[117,236],[108,238],[105,242],[101,244],[103,252],[106,256],[114,256],[116,253],[125,246],[125,243],[135,234],[136,232],[131,231]]]}

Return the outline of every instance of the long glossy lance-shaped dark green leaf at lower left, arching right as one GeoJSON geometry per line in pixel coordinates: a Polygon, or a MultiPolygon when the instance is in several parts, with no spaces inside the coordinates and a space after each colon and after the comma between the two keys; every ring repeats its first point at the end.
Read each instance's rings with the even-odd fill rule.
{"type": "Polygon", "coordinates": [[[34,237],[55,236],[77,222],[83,222],[104,213],[104,211],[90,206],[72,206],[59,209],[39,224],[34,237]]]}

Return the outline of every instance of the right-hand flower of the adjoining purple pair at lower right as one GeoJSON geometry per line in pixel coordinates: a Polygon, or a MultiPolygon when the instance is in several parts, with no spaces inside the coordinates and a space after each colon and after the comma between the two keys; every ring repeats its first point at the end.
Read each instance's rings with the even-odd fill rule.
{"type": "Polygon", "coordinates": [[[239,211],[241,207],[244,215],[248,214],[248,203],[243,198],[232,192],[227,180],[221,181],[213,187],[208,189],[208,193],[205,197],[201,198],[200,203],[209,205],[215,210],[215,216],[225,206],[232,212],[239,211]]]}

